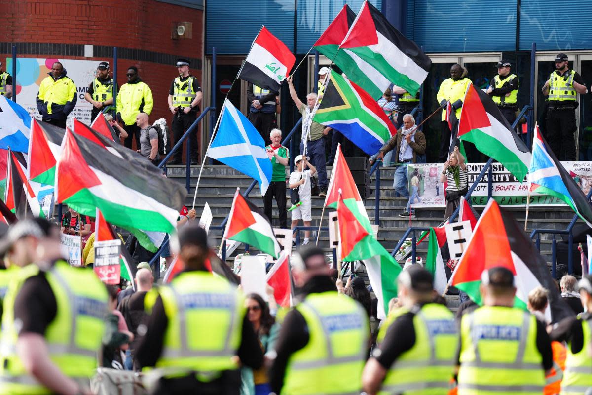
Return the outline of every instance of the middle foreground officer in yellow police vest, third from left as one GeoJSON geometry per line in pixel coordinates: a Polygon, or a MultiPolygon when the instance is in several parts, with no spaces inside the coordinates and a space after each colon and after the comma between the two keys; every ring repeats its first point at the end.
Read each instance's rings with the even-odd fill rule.
{"type": "Polygon", "coordinates": [[[358,394],[368,354],[368,316],[337,293],[323,250],[303,249],[292,262],[304,300],[286,314],[269,371],[275,393],[358,394]]]}

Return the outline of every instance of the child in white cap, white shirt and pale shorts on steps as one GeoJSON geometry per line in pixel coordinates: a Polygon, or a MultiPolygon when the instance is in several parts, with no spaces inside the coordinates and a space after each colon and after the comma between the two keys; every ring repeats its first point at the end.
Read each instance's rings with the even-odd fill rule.
{"type": "MultiPolygon", "coordinates": [[[[309,159],[308,156],[302,155],[298,155],[294,159],[296,169],[290,174],[288,181],[288,188],[291,190],[298,188],[298,196],[300,198],[299,202],[292,201],[293,206],[290,209],[292,211],[291,229],[298,226],[298,221],[300,219],[303,220],[304,226],[310,226],[310,221],[313,219],[312,202],[310,198],[310,178],[317,172],[317,169],[308,162],[309,159]],[[294,205],[296,207],[294,207],[294,205]]],[[[305,230],[303,245],[308,244],[309,236],[310,230],[305,230]]]]}

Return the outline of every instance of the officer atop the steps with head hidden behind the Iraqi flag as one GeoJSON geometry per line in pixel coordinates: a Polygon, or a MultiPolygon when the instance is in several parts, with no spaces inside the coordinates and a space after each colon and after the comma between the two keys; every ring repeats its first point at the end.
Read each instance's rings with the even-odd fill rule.
{"type": "Polygon", "coordinates": [[[279,95],[276,91],[259,88],[249,82],[247,84],[247,99],[250,102],[249,121],[259,132],[265,145],[271,144],[269,135],[276,124],[276,102],[275,97],[279,95]]]}

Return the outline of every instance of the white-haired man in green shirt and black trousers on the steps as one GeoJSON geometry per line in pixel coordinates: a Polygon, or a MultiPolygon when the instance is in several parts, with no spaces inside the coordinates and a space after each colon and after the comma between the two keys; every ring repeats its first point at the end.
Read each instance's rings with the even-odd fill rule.
{"type": "Polygon", "coordinates": [[[286,165],[290,158],[290,152],[287,147],[282,146],[282,131],[279,129],[272,129],[269,134],[271,145],[265,147],[273,166],[273,173],[271,176],[271,184],[265,192],[263,197],[263,211],[265,215],[272,221],[271,204],[275,197],[275,203],[278,205],[279,211],[279,226],[282,229],[287,229],[287,215],[286,215],[286,165]]]}

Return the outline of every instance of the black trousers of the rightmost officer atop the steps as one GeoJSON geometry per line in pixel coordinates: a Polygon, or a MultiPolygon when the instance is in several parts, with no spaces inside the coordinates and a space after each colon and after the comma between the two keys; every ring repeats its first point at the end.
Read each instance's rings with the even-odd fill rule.
{"type": "Polygon", "coordinates": [[[549,146],[559,160],[575,160],[575,109],[547,110],[546,135],[549,146]]]}

